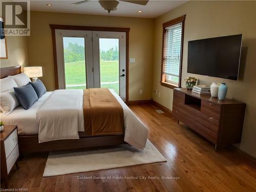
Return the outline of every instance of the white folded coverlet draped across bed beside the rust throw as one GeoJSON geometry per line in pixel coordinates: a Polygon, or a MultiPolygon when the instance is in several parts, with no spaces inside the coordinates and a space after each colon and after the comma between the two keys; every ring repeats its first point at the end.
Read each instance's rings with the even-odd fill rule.
{"type": "Polygon", "coordinates": [[[36,112],[39,143],[79,139],[79,121],[83,121],[82,104],[83,90],[55,90],[36,112]]]}

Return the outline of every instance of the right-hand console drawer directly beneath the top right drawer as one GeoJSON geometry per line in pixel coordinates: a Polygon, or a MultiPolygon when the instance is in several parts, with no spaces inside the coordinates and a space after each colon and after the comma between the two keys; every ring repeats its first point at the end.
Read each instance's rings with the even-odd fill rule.
{"type": "Polygon", "coordinates": [[[206,127],[209,127],[209,129],[213,132],[218,133],[219,131],[220,121],[218,119],[215,119],[214,117],[208,116],[200,111],[197,111],[196,121],[205,125],[206,127]]]}

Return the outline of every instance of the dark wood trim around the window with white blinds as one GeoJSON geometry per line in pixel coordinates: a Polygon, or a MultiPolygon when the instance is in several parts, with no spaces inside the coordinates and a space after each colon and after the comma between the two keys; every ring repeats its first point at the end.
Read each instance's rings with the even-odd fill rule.
{"type": "Polygon", "coordinates": [[[162,64],[161,64],[161,79],[160,84],[161,86],[174,89],[174,88],[181,88],[181,73],[182,73],[182,57],[183,57],[183,38],[184,38],[184,21],[185,21],[186,15],[180,16],[178,18],[175,18],[173,20],[169,20],[166,23],[163,23],[163,35],[162,35],[162,64]],[[163,73],[163,63],[164,63],[164,36],[165,36],[165,28],[181,23],[182,22],[182,34],[181,34],[181,53],[180,53],[180,74],[179,74],[179,83],[178,86],[176,84],[168,83],[166,82],[166,74],[163,73]]]}

